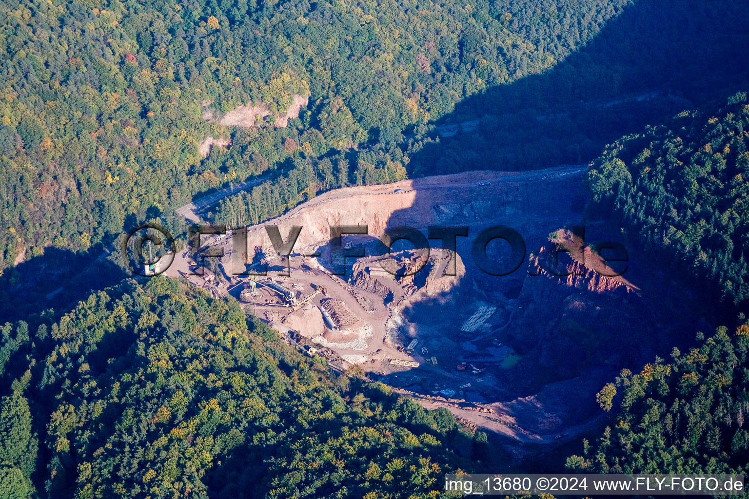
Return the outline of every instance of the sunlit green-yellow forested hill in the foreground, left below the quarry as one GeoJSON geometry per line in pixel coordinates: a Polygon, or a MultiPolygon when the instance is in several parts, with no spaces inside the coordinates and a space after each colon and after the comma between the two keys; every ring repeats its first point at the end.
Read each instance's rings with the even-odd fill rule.
{"type": "Polygon", "coordinates": [[[3,498],[426,498],[468,469],[450,449],[485,452],[446,409],[335,378],[179,281],[33,329],[0,328],[3,498]]]}

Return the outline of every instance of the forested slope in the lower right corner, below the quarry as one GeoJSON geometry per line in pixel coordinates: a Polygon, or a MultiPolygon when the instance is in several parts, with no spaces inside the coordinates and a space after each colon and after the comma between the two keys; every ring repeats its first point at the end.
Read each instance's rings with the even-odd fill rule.
{"type": "Polygon", "coordinates": [[[718,328],[639,374],[623,370],[598,394],[613,420],[568,468],[586,473],[745,474],[749,461],[749,326],[718,328]],[[617,394],[619,393],[619,394],[617,394]],[[748,428],[745,428],[748,426],[748,428]]]}

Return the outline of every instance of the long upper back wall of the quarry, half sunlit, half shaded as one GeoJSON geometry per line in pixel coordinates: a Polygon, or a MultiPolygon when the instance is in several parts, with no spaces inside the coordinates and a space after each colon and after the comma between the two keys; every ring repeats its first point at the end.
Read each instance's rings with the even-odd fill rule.
{"type": "Polygon", "coordinates": [[[583,171],[584,168],[511,174],[472,171],[384,186],[336,189],[265,224],[249,227],[249,248],[270,247],[266,224],[278,225],[283,236],[288,227],[302,226],[294,245],[294,251],[300,254],[310,254],[325,245],[330,240],[330,227],[336,225],[366,225],[369,236],[378,237],[387,227],[398,225],[419,230],[439,224],[470,225],[471,230],[479,230],[497,221],[505,224],[511,218],[533,213],[535,226],[539,220],[563,217],[559,200],[580,189],[583,171]],[[549,183],[551,179],[558,180],[549,183]]]}

